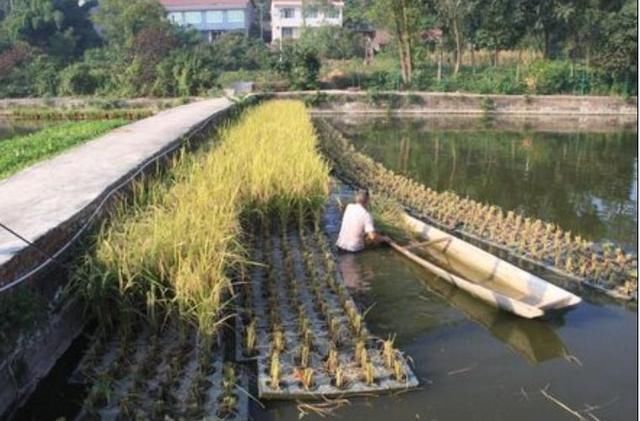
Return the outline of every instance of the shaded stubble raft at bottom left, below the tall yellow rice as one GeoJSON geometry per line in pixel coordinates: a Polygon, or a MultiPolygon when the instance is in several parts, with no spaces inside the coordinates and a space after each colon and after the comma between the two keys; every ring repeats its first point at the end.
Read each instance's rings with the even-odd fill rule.
{"type": "Polygon", "coordinates": [[[223,351],[186,323],[98,334],[74,374],[93,384],[77,419],[247,419],[247,376],[223,351]]]}

